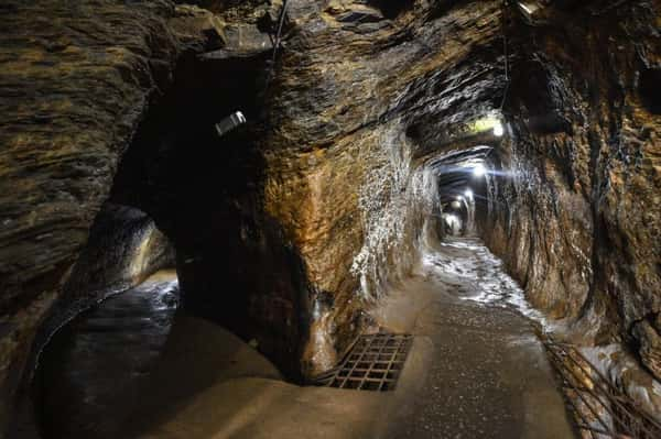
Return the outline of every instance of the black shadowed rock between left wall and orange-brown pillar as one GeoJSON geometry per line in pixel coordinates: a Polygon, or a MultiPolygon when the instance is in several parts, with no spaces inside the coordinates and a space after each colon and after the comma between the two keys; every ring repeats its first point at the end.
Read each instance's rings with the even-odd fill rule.
{"type": "Polygon", "coordinates": [[[296,380],[304,276],[260,195],[266,56],[184,57],[138,129],[111,200],[144,209],[172,237],[188,311],[253,340],[296,380]],[[216,124],[237,111],[247,123],[220,134],[216,124]]]}

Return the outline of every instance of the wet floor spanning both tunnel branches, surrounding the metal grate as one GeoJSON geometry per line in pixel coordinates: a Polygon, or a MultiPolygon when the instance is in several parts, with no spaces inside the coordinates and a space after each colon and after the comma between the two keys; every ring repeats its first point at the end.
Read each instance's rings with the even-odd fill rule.
{"type": "Polygon", "coordinates": [[[161,275],[58,332],[39,373],[43,439],[575,437],[525,317],[539,316],[477,240],[441,244],[373,309],[415,336],[394,392],[285,383],[176,305],[176,278],[161,275]]]}

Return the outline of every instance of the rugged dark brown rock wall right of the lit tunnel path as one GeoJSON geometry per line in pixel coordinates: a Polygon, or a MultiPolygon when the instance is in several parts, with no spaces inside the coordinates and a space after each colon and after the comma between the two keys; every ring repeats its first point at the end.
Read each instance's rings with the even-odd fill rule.
{"type": "Polygon", "coordinates": [[[509,174],[483,224],[535,307],[577,342],[624,343],[657,378],[660,20],[659,1],[606,2],[510,28],[509,174]]]}

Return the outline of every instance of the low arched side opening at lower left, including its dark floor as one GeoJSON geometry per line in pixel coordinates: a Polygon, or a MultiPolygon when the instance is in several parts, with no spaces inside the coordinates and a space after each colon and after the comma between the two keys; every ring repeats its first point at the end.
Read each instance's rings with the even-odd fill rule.
{"type": "Polygon", "coordinates": [[[139,385],[172,329],[180,301],[174,249],[144,212],[107,204],[66,294],[84,311],[39,354],[35,427],[43,439],[112,437],[139,404],[139,385]]]}

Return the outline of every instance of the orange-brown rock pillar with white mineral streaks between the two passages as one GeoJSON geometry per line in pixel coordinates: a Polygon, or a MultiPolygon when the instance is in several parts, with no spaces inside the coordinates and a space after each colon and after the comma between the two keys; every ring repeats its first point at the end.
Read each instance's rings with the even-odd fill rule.
{"type": "Polygon", "coordinates": [[[269,85],[264,206],[305,263],[307,374],[334,363],[361,310],[414,263],[437,197],[424,157],[498,84],[487,47],[500,3],[384,4],[290,2],[269,85]]]}

